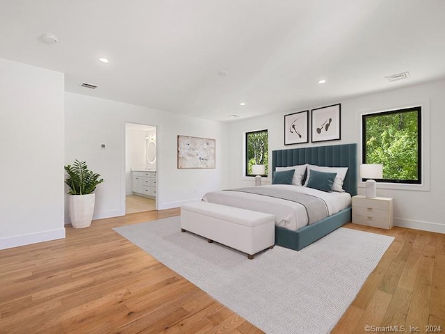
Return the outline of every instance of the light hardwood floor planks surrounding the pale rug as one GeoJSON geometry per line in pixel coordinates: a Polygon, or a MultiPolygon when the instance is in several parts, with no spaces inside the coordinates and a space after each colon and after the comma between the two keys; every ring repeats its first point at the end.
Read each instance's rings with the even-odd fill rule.
{"type": "MultiPolygon", "coordinates": [[[[262,333],[112,230],[178,214],[67,226],[66,239],[0,250],[0,333],[262,333]]],[[[445,333],[445,234],[346,227],[396,239],[332,333],[445,333]]]]}

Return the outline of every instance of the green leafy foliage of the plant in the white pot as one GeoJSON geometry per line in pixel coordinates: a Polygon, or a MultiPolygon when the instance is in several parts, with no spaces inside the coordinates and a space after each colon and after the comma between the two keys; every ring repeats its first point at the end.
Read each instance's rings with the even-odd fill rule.
{"type": "Polygon", "coordinates": [[[74,160],[74,164],[64,167],[67,172],[65,183],[70,187],[70,195],[88,195],[95,191],[97,184],[104,182],[98,173],[88,169],[86,161],[74,160]]]}

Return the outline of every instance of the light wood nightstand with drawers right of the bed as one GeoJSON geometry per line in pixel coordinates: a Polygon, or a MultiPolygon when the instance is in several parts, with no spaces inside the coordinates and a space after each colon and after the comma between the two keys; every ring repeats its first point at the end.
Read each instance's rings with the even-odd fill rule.
{"type": "Polygon", "coordinates": [[[391,230],[393,216],[392,198],[353,196],[353,223],[391,230]]]}

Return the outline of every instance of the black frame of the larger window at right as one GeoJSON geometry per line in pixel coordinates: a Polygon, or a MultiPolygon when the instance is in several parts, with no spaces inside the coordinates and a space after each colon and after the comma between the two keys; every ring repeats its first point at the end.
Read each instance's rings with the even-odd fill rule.
{"type": "MultiPolygon", "coordinates": [[[[381,111],[378,113],[366,113],[362,115],[362,164],[366,164],[366,118],[387,116],[397,113],[407,113],[417,111],[417,177],[418,180],[391,180],[375,179],[376,182],[394,183],[394,184],[422,184],[422,107],[412,106],[390,111],[381,111]]],[[[362,178],[362,181],[368,179],[362,178]]]]}

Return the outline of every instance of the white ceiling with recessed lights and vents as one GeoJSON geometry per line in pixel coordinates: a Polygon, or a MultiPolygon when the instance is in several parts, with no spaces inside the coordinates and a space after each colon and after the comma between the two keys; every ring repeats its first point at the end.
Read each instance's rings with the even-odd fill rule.
{"type": "Polygon", "coordinates": [[[443,78],[444,17],[444,0],[0,0],[0,58],[64,72],[69,92],[225,121],[443,78]]]}

